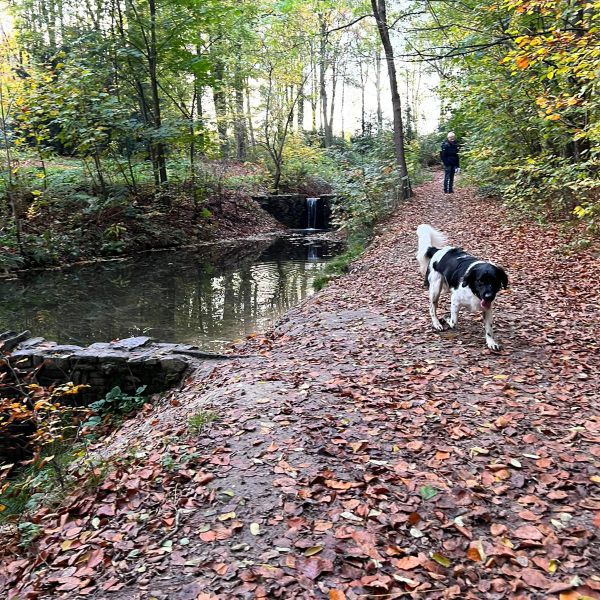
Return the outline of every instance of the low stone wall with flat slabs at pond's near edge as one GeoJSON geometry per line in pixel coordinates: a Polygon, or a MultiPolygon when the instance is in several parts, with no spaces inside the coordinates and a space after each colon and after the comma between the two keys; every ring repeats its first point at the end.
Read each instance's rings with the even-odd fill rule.
{"type": "Polygon", "coordinates": [[[28,334],[0,335],[0,348],[12,350],[8,357],[11,366],[19,372],[38,369],[35,379],[40,385],[67,381],[89,385],[77,395],[82,404],[103,397],[115,386],[128,393],[141,385],[147,386],[146,393],[160,392],[177,384],[188,367],[199,360],[228,358],[202,352],[190,344],[154,342],[145,336],[83,348],[28,334]]]}

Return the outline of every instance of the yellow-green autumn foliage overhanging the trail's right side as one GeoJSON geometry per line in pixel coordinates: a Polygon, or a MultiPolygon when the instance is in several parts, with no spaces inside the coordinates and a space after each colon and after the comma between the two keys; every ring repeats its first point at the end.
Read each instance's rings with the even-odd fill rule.
{"type": "Polygon", "coordinates": [[[598,233],[600,3],[442,3],[423,46],[446,50],[448,129],[466,173],[513,209],[598,233]],[[442,46],[443,44],[443,46],[442,46]]]}

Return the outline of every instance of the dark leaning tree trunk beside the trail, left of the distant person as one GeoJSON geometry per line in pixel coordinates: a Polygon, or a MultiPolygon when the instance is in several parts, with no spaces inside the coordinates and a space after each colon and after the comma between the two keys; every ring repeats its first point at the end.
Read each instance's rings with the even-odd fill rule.
{"type": "Polygon", "coordinates": [[[390,79],[390,90],[392,93],[392,109],[394,111],[394,150],[396,154],[396,164],[400,171],[401,178],[401,196],[408,198],[411,195],[410,180],[408,178],[408,169],[406,167],[406,155],[404,151],[404,132],[402,130],[402,104],[400,94],[398,93],[398,79],[396,77],[396,65],[394,64],[394,50],[390,40],[390,32],[387,24],[385,0],[371,0],[373,16],[377,22],[377,29],[381,37],[381,43],[385,52],[385,58],[388,66],[388,76],[390,79]]]}

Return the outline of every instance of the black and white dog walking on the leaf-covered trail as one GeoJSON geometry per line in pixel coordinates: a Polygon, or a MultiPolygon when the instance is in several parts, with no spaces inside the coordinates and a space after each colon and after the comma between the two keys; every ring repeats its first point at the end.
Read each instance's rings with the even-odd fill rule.
{"type": "Polygon", "coordinates": [[[504,269],[486,260],[478,260],[462,248],[446,245],[446,236],[431,225],[417,227],[419,245],[417,261],[425,287],[429,288],[429,313],[434,329],[444,326],[437,316],[437,306],[443,289],[450,290],[450,321],[455,328],[458,311],[464,306],[471,312],[483,312],[485,343],[490,350],[500,350],[494,339],[492,302],[500,289],[508,287],[504,269]]]}

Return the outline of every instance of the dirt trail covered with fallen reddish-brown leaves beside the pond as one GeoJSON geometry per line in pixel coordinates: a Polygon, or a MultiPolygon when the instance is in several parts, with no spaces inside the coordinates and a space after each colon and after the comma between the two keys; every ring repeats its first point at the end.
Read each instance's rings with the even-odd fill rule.
{"type": "Polygon", "coordinates": [[[600,260],[440,188],[248,358],[128,422],[105,482],[9,546],[4,595],[600,598],[600,260]],[[478,317],[432,331],[421,222],[508,271],[502,353],[478,317]]]}

